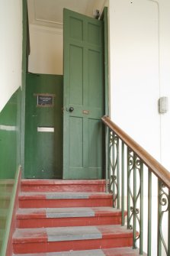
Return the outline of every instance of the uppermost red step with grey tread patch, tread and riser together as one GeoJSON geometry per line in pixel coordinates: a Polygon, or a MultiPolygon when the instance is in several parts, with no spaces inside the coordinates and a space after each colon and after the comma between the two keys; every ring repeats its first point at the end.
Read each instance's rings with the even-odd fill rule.
{"type": "Polygon", "coordinates": [[[60,207],[97,207],[111,206],[112,195],[104,192],[33,192],[21,193],[21,208],[60,208],[60,207]]]}

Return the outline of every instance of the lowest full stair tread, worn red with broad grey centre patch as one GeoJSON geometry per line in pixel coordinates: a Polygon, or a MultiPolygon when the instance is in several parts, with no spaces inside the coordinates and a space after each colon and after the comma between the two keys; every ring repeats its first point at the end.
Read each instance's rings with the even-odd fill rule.
{"type": "Polygon", "coordinates": [[[75,241],[131,237],[132,231],[120,225],[76,226],[62,228],[17,228],[13,242],[75,241]]]}

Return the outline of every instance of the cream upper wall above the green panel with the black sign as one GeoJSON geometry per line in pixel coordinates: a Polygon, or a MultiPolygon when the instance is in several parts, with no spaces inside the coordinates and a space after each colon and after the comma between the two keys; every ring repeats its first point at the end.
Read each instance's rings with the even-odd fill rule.
{"type": "Polygon", "coordinates": [[[30,24],[30,73],[63,74],[63,30],[30,24]]]}

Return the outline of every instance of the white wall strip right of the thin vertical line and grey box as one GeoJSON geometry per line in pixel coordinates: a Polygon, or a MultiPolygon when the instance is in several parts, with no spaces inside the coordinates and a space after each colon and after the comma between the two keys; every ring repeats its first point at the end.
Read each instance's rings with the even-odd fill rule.
{"type": "Polygon", "coordinates": [[[170,170],[170,2],[159,0],[161,96],[168,97],[168,113],[161,116],[162,164],[170,170]]]}

